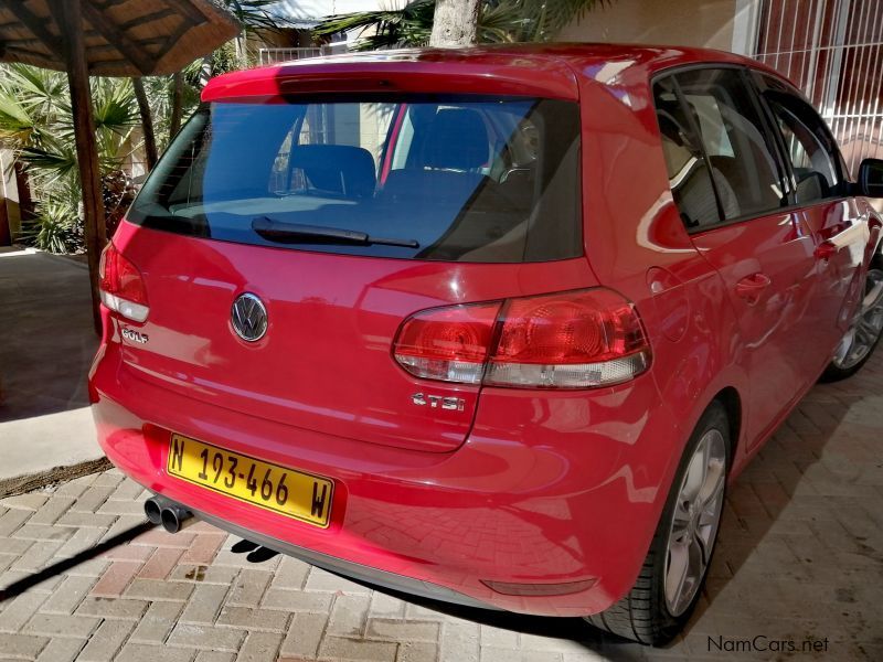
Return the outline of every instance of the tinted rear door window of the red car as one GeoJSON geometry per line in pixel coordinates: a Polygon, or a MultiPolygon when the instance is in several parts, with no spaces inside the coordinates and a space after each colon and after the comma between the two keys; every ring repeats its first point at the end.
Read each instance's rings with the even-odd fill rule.
{"type": "Polygon", "coordinates": [[[757,216],[788,204],[787,186],[758,109],[738,70],[675,74],[699,127],[726,220],[757,216]]]}

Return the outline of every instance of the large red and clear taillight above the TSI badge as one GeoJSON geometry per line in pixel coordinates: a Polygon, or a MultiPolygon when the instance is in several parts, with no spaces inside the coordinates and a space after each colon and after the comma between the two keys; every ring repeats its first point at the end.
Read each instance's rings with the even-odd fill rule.
{"type": "Polygon", "coordinates": [[[426,380],[523,388],[592,388],[650,365],[635,307],[604,288],[418,312],[396,361],[426,380]]]}

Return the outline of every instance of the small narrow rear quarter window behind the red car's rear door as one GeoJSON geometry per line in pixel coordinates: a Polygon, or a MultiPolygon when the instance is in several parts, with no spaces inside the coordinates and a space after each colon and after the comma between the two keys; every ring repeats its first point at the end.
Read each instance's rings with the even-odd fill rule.
{"type": "Polygon", "coordinates": [[[653,85],[653,100],[671,194],[684,225],[695,228],[719,223],[717,200],[705,157],[671,77],[653,85]]]}

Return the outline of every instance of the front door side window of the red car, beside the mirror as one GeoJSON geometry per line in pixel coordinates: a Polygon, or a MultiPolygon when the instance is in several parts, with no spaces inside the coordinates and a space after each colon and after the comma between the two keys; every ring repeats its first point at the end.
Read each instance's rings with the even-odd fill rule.
{"type": "Polygon", "coordinates": [[[840,177],[822,119],[791,94],[767,92],[764,96],[791,161],[795,202],[809,204],[837,196],[840,177]]]}

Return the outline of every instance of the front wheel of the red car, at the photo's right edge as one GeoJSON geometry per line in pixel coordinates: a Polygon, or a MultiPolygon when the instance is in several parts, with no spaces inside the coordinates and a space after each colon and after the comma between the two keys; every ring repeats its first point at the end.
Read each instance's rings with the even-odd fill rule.
{"type": "Polygon", "coordinates": [[[839,382],[859,372],[883,337],[883,258],[876,257],[868,270],[864,299],[821,382],[839,382]]]}

